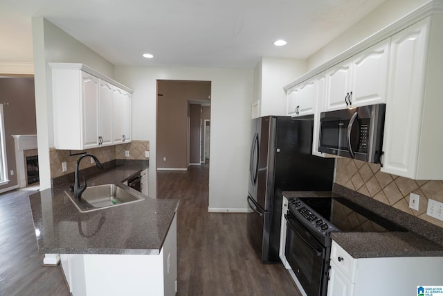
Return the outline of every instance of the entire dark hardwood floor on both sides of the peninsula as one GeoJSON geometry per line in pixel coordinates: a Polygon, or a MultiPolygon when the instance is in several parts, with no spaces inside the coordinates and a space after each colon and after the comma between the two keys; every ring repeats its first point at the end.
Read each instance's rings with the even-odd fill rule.
{"type": "MultiPolygon", "coordinates": [[[[178,295],[300,295],[282,264],[260,263],[246,239],[246,214],[208,213],[207,165],[161,171],[157,190],[180,199],[178,295]]],[[[60,265],[42,266],[29,193],[0,194],[0,296],[68,296],[60,265]]]]}

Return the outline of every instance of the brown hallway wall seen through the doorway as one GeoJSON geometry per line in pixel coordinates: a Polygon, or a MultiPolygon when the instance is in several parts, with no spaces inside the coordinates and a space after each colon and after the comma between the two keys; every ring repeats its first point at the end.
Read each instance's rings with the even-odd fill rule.
{"type": "Polygon", "coordinates": [[[210,91],[209,81],[157,81],[158,168],[188,168],[188,101],[208,100],[210,91]]]}

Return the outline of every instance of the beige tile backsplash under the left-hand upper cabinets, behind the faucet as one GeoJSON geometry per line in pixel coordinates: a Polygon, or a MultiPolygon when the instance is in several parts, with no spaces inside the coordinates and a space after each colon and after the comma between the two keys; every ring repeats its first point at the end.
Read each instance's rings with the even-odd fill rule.
{"type": "MultiPolygon", "coordinates": [[[[131,143],[125,143],[115,146],[106,146],[101,148],[93,148],[84,150],[87,153],[95,155],[100,162],[110,162],[114,159],[149,159],[145,157],[145,151],[150,150],[150,141],[132,141],[131,143]],[[125,150],[129,150],[129,157],[125,157],[125,150]]],[[[72,150],[72,153],[79,153],[80,151],[72,150]]],[[[51,178],[60,177],[73,173],[75,169],[75,162],[77,162],[80,155],[69,155],[70,150],[56,150],[55,148],[49,149],[49,158],[51,159],[51,178]],[[66,162],[68,170],[62,171],[62,162],[66,162]]],[[[87,159],[83,159],[80,162],[80,169],[89,168],[95,166],[87,159]]]]}

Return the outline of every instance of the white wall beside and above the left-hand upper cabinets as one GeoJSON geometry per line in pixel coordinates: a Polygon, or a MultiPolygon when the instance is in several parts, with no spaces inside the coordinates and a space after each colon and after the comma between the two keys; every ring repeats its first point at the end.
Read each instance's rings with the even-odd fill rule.
{"type": "MultiPolygon", "coordinates": [[[[40,189],[51,187],[49,148],[54,146],[51,67],[48,62],[79,62],[114,76],[114,65],[42,17],[33,17],[35,110],[40,189]]],[[[66,110],[69,112],[69,110],[66,110]]]]}

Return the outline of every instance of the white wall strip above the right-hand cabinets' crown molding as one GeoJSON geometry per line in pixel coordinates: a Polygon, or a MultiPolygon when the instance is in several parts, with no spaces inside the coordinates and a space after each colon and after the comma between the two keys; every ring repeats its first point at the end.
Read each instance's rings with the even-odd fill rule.
{"type": "Polygon", "coordinates": [[[307,59],[307,71],[331,60],[355,44],[389,26],[428,0],[387,0],[340,36],[307,59]]]}

